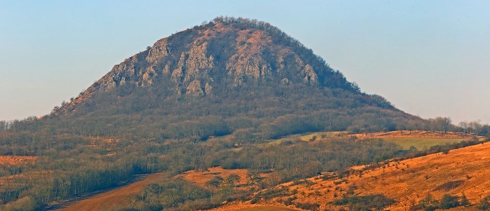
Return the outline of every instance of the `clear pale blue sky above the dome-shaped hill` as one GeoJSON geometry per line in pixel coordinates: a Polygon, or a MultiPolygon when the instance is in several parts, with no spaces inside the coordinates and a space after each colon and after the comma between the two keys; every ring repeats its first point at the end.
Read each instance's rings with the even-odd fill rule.
{"type": "Polygon", "coordinates": [[[0,119],[48,114],[158,39],[220,15],[278,26],[408,113],[490,123],[488,0],[0,0],[0,119]]]}

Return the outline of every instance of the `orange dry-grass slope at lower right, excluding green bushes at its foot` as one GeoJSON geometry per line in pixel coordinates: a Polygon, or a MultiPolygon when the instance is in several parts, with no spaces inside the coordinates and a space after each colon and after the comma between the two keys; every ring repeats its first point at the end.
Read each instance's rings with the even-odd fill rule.
{"type": "MultiPolygon", "coordinates": [[[[359,168],[358,168],[359,169],[359,168]]],[[[406,211],[413,203],[418,203],[428,193],[440,199],[445,193],[466,195],[472,203],[468,208],[456,208],[453,211],[475,210],[475,204],[490,194],[490,143],[477,144],[423,157],[390,162],[371,170],[338,179],[324,180],[320,177],[309,178],[309,184],[281,186],[295,190],[297,197],[293,202],[317,203],[320,210],[338,209],[330,204],[339,199],[351,187],[356,195],[383,194],[396,202],[391,211],[406,211]]],[[[276,197],[267,201],[261,200],[257,206],[284,206],[276,197]]],[[[250,202],[230,203],[214,211],[237,211],[251,206],[250,202]]],[[[287,206],[293,208],[292,205],[287,206]]]]}

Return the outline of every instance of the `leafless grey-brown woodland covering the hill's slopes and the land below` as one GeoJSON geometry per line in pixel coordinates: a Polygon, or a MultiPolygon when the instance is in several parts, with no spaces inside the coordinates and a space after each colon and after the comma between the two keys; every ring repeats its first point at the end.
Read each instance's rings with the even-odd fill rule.
{"type": "MultiPolygon", "coordinates": [[[[347,82],[310,49],[279,29],[254,20],[217,18],[177,33],[169,42],[174,42],[172,49],[178,53],[168,55],[166,59],[172,62],[166,64],[177,65],[183,55],[179,50],[186,50],[200,30],[217,23],[265,31],[273,44],[294,50],[298,58],[317,70],[319,84],[303,84],[301,78],[291,78],[299,83],[284,86],[276,77],[272,82],[229,86],[232,80],[225,76],[220,79],[216,73],[212,93],[196,97],[181,89],[176,91],[170,74],[155,73],[151,85],[144,87],[117,81],[118,86],[103,90],[100,87],[104,81],[98,81],[49,115],[0,121],[0,155],[38,156],[35,164],[0,165],[0,210],[41,210],[53,202],[115,187],[137,174],[166,172],[172,178],[187,170],[213,166],[246,168],[252,174],[271,173],[273,176],[257,180],[257,190],[314,176],[316,172],[341,171],[353,165],[476,143],[433,147],[427,152],[403,150],[380,140],[360,142],[339,137],[272,143],[290,134],[415,129],[489,134],[488,125],[462,122],[455,126],[448,118],[421,119],[399,111],[381,96],[361,93],[359,87],[347,82]]],[[[237,35],[226,36],[234,40],[237,35]]],[[[225,41],[209,41],[206,56],[214,55],[216,63],[231,57],[232,52],[212,50],[227,45],[225,41]]],[[[144,57],[152,49],[134,58],[144,57]]],[[[260,55],[264,61],[277,60],[269,59],[272,53],[260,55]]],[[[137,60],[133,65],[143,69],[147,63],[137,60]]],[[[222,63],[216,64],[213,71],[227,75],[221,70],[226,62],[222,63]]],[[[270,67],[279,66],[271,63],[270,67]]],[[[138,76],[131,75],[127,80],[134,78],[138,76]]],[[[306,79],[309,81],[310,76],[306,79]]],[[[169,179],[148,186],[136,196],[133,207],[121,209],[195,210],[225,200],[245,200],[245,195],[229,188],[202,189],[169,179]]]]}

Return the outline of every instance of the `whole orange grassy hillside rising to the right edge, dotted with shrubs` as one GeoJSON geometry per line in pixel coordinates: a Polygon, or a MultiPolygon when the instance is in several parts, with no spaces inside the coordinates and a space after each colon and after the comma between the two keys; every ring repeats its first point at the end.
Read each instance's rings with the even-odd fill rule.
{"type": "MultiPolygon", "coordinates": [[[[386,203],[378,209],[406,211],[418,210],[416,207],[425,203],[427,197],[431,197],[434,206],[439,206],[444,194],[458,200],[464,196],[468,200],[467,207],[456,208],[461,206],[456,204],[451,210],[478,210],[477,205],[490,194],[489,152],[490,144],[480,143],[450,150],[447,154],[435,153],[372,167],[353,167],[348,174],[326,173],[261,190],[255,194],[257,200],[232,203],[213,211],[239,211],[241,207],[251,205],[290,209],[308,205],[307,210],[352,209],[381,206],[382,200],[386,203]],[[377,197],[381,204],[363,204],[362,197],[377,197]]],[[[370,202],[377,203],[372,199],[370,202]]]]}

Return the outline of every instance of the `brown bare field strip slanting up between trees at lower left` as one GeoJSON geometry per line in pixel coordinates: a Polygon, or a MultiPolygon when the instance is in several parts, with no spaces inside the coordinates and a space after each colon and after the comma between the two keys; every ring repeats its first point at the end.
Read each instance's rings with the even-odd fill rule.
{"type": "Polygon", "coordinates": [[[144,175],[136,182],[130,183],[127,186],[114,188],[112,190],[91,195],[84,199],[68,202],[64,205],[55,206],[51,210],[55,211],[106,211],[114,208],[124,207],[129,205],[132,196],[137,194],[145,185],[152,182],[165,180],[164,173],[155,173],[144,175]]]}

